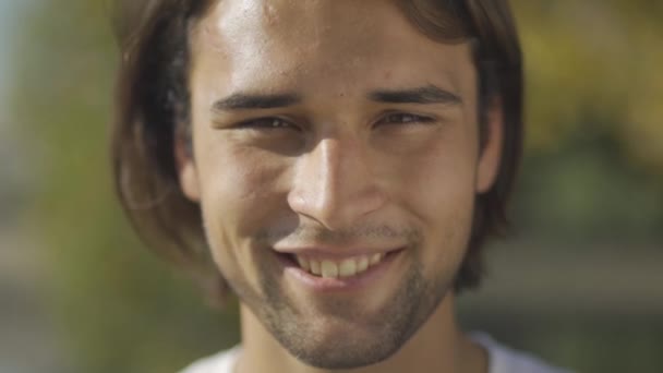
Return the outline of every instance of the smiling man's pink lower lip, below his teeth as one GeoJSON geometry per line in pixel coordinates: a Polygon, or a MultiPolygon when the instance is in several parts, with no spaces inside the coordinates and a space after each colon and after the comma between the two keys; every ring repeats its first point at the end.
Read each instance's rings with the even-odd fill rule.
{"type": "Polygon", "coordinates": [[[353,291],[375,282],[384,276],[403,250],[395,250],[385,255],[376,265],[359,275],[350,277],[325,278],[310,274],[292,262],[284,254],[277,254],[279,262],[284,265],[286,276],[291,276],[304,287],[316,292],[353,291]]]}

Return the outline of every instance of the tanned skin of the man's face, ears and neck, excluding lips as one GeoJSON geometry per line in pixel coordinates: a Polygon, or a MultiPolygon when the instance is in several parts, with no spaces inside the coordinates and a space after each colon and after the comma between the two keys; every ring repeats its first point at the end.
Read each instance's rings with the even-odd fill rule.
{"type": "Polygon", "coordinates": [[[451,289],[502,143],[494,105],[479,147],[469,45],[433,41],[373,0],[225,0],[191,45],[180,183],[241,300],[237,372],[485,372],[451,289]],[[434,103],[375,99],[421,87],[434,103]],[[280,103],[238,109],[239,95],[280,103]],[[403,250],[379,281],[321,293],[277,260],[304,246],[403,250]]]}

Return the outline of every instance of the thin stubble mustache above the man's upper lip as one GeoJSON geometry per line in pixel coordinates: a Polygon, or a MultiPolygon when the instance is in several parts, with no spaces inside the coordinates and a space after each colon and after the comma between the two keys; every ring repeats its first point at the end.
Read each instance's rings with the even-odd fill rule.
{"type": "Polygon", "coordinates": [[[328,230],[317,226],[298,226],[293,228],[263,229],[255,233],[254,239],[260,243],[269,244],[286,239],[321,244],[348,244],[367,240],[405,240],[409,243],[417,243],[422,240],[422,233],[414,228],[394,228],[387,225],[353,227],[342,230],[328,230]]]}

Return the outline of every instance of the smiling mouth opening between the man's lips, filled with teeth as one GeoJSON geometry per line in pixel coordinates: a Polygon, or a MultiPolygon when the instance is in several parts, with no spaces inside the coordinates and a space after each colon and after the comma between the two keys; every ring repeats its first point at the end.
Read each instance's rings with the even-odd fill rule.
{"type": "Polygon", "coordinates": [[[357,255],[342,260],[318,260],[297,254],[282,254],[291,264],[308,274],[321,278],[350,278],[361,275],[400,250],[388,253],[357,255]]]}

